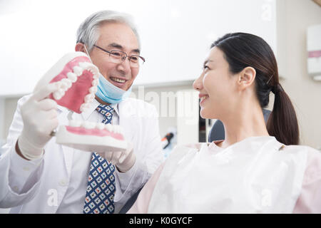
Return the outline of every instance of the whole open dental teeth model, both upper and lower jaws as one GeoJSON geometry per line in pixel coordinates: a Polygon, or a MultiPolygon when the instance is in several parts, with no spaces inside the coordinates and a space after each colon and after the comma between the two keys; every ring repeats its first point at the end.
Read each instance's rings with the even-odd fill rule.
{"type": "MultiPolygon", "coordinates": [[[[95,98],[98,73],[85,53],[68,53],[41,78],[34,91],[57,83],[58,90],[49,98],[68,110],[82,113],[95,98]]],[[[60,125],[55,135],[58,144],[89,152],[122,152],[127,148],[119,125],[69,120],[69,125],[60,125]]]]}

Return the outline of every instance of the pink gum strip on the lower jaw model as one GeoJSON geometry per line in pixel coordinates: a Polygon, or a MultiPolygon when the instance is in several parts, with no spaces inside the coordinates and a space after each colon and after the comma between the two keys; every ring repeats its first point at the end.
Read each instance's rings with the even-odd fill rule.
{"type": "Polygon", "coordinates": [[[101,137],[111,136],[116,140],[124,140],[123,135],[119,133],[112,133],[106,129],[100,130],[97,128],[87,129],[87,128],[81,128],[81,127],[66,126],[66,130],[70,133],[78,134],[78,135],[93,135],[93,136],[101,136],[101,137]]]}

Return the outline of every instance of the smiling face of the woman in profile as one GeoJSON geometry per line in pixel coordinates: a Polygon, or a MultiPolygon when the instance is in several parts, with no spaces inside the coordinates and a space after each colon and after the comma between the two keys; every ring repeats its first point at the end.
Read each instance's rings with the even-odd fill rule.
{"type": "Polygon", "coordinates": [[[238,77],[229,71],[223,51],[217,47],[210,49],[203,72],[193,83],[195,90],[200,92],[202,118],[220,119],[233,111],[233,105],[237,102],[237,80],[238,77]]]}

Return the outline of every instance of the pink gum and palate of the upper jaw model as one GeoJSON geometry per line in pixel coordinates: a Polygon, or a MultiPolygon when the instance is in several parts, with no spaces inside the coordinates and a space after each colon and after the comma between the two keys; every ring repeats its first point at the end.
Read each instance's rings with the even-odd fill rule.
{"type": "MultiPolygon", "coordinates": [[[[63,78],[68,78],[67,73],[73,72],[73,67],[78,66],[78,63],[88,62],[91,63],[88,57],[79,56],[73,58],[69,61],[66,66],[64,66],[63,71],[54,77],[50,83],[61,81],[63,78]]],[[[91,71],[83,71],[81,76],[77,76],[77,81],[72,84],[65,95],[60,100],[54,99],[54,96],[51,94],[49,97],[56,100],[58,105],[73,110],[76,113],[81,113],[80,107],[84,103],[85,96],[89,93],[89,88],[92,86],[93,73],[91,71]]]]}

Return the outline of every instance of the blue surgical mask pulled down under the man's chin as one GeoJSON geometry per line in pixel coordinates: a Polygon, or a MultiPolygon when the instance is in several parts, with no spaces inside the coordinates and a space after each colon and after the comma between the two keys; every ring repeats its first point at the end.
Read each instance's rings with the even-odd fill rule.
{"type": "MultiPolygon", "coordinates": [[[[84,45],[84,47],[88,57],[91,60],[86,45],[84,45]]],[[[93,63],[93,61],[91,61],[91,63],[93,63]]],[[[131,88],[132,87],[133,85],[131,86],[131,88]]],[[[120,103],[122,100],[128,98],[128,96],[131,95],[131,88],[129,88],[127,91],[122,90],[121,88],[114,86],[112,83],[106,80],[106,78],[103,77],[103,75],[99,72],[99,81],[96,95],[98,96],[98,98],[101,98],[101,100],[103,100],[104,102],[110,104],[120,103]]]]}

